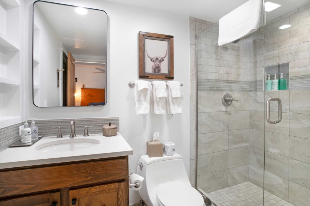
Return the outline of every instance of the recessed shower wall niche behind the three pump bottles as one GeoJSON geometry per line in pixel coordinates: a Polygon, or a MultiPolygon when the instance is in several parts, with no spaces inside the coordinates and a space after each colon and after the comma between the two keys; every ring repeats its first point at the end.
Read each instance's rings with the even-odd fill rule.
{"type": "MultiPolygon", "coordinates": [[[[290,67],[289,62],[281,63],[281,64],[275,64],[271,66],[265,67],[265,79],[268,80],[267,75],[270,75],[270,80],[274,79],[275,74],[277,75],[277,79],[279,80],[281,75],[280,73],[283,73],[283,79],[286,79],[286,90],[289,90],[289,81],[290,81],[290,67]]],[[[264,85],[264,90],[266,92],[269,92],[266,90],[266,85],[264,85]]],[[[280,90],[280,89],[278,89],[280,90]]],[[[274,91],[274,90],[273,90],[274,91]]]]}

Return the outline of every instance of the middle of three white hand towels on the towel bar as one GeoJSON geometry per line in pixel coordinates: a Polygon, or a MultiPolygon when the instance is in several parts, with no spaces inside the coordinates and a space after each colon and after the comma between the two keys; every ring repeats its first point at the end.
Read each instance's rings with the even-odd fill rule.
{"type": "Polygon", "coordinates": [[[166,114],[166,82],[153,81],[152,88],[152,113],[154,114],[166,114]]]}

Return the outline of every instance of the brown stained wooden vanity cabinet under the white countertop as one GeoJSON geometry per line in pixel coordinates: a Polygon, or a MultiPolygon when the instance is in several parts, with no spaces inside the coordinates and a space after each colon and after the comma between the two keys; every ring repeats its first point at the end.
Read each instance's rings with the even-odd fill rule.
{"type": "Polygon", "coordinates": [[[128,206],[128,156],[0,170],[0,206],[128,206]]]}

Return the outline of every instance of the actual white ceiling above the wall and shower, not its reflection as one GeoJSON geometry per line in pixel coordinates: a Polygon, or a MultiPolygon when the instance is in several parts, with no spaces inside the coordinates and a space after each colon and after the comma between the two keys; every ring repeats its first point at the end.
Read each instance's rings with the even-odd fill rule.
{"type": "MultiPolygon", "coordinates": [[[[127,4],[131,6],[153,8],[174,12],[199,19],[218,22],[219,19],[248,0],[105,0],[108,2],[127,4]]],[[[265,2],[280,4],[277,9],[266,12],[267,21],[285,14],[310,0],[265,0],[265,2]]]]}

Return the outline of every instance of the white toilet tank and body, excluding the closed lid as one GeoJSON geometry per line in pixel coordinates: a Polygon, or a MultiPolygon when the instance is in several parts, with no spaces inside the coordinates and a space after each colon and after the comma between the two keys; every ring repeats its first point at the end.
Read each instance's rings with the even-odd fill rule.
{"type": "Polygon", "coordinates": [[[181,181],[191,185],[186,174],[182,156],[175,153],[173,156],[148,157],[143,155],[139,159],[137,174],[144,177],[142,188],[139,190],[144,202],[156,204],[156,190],[159,184],[181,181]]]}

